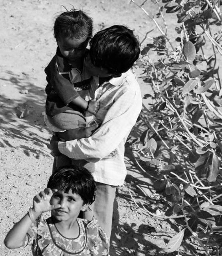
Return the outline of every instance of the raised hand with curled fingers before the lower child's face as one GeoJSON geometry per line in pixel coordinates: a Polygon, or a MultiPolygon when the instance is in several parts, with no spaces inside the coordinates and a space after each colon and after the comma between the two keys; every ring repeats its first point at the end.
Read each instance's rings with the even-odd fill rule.
{"type": "Polygon", "coordinates": [[[60,204],[51,205],[50,199],[57,189],[45,188],[33,198],[33,210],[35,212],[48,212],[60,207],[60,204]]]}

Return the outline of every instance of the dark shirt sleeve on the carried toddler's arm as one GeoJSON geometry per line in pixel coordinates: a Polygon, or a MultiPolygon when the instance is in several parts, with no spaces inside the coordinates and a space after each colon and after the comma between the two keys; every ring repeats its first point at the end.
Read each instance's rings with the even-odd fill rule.
{"type": "MultiPolygon", "coordinates": [[[[55,58],[53,58],[50,64],[45,68],[45,73],[47,75],[46,80],[48,84],[54,88],[65,105],[79,96],[74,89],[73,83],[62,74],[59,74],[55,58]]],[[[67,73],[65,76],[69,76],[69,74],[67,73]]]]}

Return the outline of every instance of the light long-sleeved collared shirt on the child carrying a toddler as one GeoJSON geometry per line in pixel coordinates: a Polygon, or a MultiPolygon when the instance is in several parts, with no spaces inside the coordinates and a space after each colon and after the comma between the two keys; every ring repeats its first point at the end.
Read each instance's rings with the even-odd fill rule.
{"type": "MultiPolygon", "coordinates": [[[[86,100],[96,98],[99,110],[94,116],[101,123],[89,138],[59,142],[59,151],[73,159],[85,159],[95,181],[122,185],[127,174],[124,163],[124,144],[142,108],[139,84],[132,70],[99,86],[93,77],[86,100]]],[[[87,117],[87,122],[92,120],[87,117]]]]}

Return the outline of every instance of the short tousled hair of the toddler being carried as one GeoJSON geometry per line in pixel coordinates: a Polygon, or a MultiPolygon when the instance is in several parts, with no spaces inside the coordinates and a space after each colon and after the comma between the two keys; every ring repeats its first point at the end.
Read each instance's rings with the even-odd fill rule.
{"type": "Polygon", "coordinates": [[[62,37],[74,37],[76,39],[82,36],[92,37],[93,20],[81,10],[71,9],[63,12],[55,18],[54,36],[55,39],[62,37]]]}

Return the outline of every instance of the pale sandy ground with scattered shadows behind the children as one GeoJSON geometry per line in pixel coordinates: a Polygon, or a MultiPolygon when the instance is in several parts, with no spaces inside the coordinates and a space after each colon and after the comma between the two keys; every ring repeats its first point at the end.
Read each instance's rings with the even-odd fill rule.
{"type": "MultiPolygon", "coordinates": [[[[8,250],[3,240],[28,211],[33,196],[46,186],[52,170],[53,158],[48,149],[51,135],[42,115],[46,98],[44,68],[55,54],[52,25],[54,16],[64,11],[62,5],[85,10],[94,20],[94,32],[123,24],[134,29],[142,40],[146,31],[154,28],[146,15],[127,0],[1,1],[0,256],[31,255],[30,248],[8,250]]],[[[150,12],[152,8],[149,6],[150,12]]],[[[140,77],[142,70],[137,74],[140,77]]],[[[150,93],[142,78],[139,82],[143,94],[150,93]]],[[[175,255],[164,248],[181,224],[159,220],[137,208],[135,202],[143,203],[155,213],[167,208],[167,200],[153,190],[149,175],[132,161],[131,154],[127,148],[128,175],[125,185],[117,190],[111,256],[175,255]]],[[[186,255],[195,255],[193,247],[189,249],[186,255]]]]}

